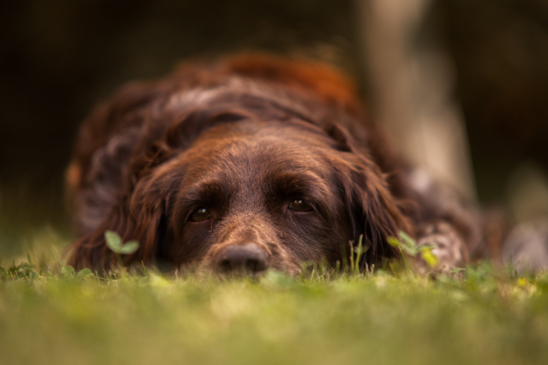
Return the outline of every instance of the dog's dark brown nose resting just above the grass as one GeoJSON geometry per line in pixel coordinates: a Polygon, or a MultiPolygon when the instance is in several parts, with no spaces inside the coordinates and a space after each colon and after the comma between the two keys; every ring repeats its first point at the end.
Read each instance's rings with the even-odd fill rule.
{"type": "Polygon", "coordinates": [[[213,266],[222,274],[245,273],[256,275],[269,266],[269,254],[255,244],[230,245],[213,258],[213,266]]]}

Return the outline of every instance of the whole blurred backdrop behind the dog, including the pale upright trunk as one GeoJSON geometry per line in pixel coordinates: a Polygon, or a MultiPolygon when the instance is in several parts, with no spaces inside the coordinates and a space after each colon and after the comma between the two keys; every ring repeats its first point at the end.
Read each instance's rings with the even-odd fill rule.
{"type": "Polygon", "coordinates": [[[244,50],[334,63],[410,160],[548,215],[546,0],[21,0],[0,4],[0,259],[70,241],[62,175],[97,102],[244,50]]]}

